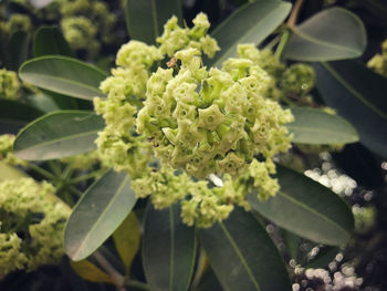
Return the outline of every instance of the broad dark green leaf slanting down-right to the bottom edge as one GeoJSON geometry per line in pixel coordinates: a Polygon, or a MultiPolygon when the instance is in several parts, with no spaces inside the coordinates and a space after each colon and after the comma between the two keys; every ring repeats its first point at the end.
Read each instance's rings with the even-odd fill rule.
{"type": "Polygon", "coordinates": [[[236,208],[226,221],[198,233],[226,291],[291,290],[278,249],[251,214],[236,208]]]}

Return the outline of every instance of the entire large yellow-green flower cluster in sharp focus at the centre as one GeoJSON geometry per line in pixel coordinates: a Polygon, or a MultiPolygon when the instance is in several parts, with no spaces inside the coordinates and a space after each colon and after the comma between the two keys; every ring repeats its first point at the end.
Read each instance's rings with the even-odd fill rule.
{"type": "Polygon", "coordinates": [[[106,123],[96,144],[104,164],[132,176],[137,197],[149,196],[156,208],[179,204],[185,224],[210,227],[234,205],[249,209],[245,195],[253,189],[260,199],[275,195],[272,157],[290,147],[283,125],[293,116],[266,97],[273,77],[253,60],[207,70],[201,55],[219,48],[206,34],[203,13],[194,24],[180,28],[172,17],[160,45],[122,46],[117,67],[101,84],[107,98],[94,100],[106,123]],[[203,179],[210,174],[223,186],[203,179]]]}

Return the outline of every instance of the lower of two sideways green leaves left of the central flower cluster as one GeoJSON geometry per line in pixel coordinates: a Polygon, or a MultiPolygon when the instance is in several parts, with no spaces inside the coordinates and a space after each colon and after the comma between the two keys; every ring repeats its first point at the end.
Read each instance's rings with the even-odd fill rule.
{"type": "Polygon", "coordinates": [[[45,160],[73,156],[96,148],[101,116],[87,111],[57,111],[27,125],[17,136],[13,149],[19,158],[45,160]]]}

